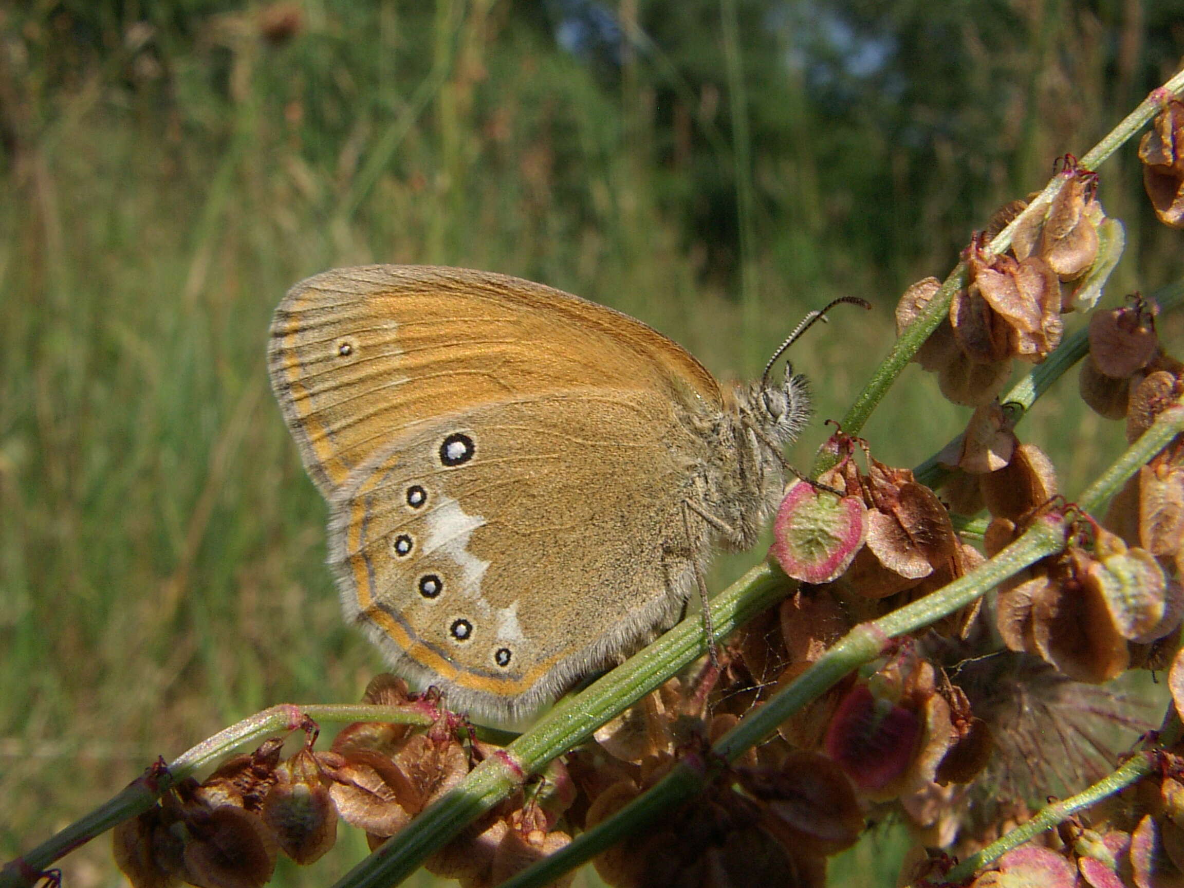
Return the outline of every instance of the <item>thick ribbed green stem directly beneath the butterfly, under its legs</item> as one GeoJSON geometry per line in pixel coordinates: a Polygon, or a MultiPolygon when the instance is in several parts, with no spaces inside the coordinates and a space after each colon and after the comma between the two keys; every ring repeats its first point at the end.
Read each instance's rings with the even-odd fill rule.
{"type": "MultiPolygon", "coordinates": [[[[726,637],[779,601],[789,583],[767,564],[748,571],[712,600],[712,623],[719,637],[726,637]]],[[[461,785],[354,867],[335,888],[398,884],[429,855],[520,787],[528,776],[590,738],[600,725],[690,665],[706,650],[702,619],[691,614],[586,690],[565,700],[502,754],[482,761],[461,785]]]]}

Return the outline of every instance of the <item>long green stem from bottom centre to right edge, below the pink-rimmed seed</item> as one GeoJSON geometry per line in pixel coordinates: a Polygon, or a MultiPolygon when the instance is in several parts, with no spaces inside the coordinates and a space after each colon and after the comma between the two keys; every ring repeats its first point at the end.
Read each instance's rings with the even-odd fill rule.
{"type": "MultiPolygon", "coordinates": [[[[1105,502],[1126,478],[1159,452],[1184,430],[1184,406],[1165,411],[1138,442],[1080,497],[1083,509],[1105,502]]],[[[893,638],[931,625],[976,599],[999,583],[1040,559],[1064,547],[1067,520],[1048,514],[1036,521],[1018,540],[965,577],[937,592],[864,623],[848,632],[805,673],[748,713],[712,748],[713,758],[733,762],[747,749],[772,734],[786,719],[817,700],[843,676],[880,656],[893,638]]],[[[697,757],[680,762],[652,789],[625,805],[612,817],[577,836],[571,844],[529,869],[507,880],[502,888],[540,888],[549,884],[617,842],[635,836],[671,806],[683,804],[702,791],[709,771],[697,757]]]]}

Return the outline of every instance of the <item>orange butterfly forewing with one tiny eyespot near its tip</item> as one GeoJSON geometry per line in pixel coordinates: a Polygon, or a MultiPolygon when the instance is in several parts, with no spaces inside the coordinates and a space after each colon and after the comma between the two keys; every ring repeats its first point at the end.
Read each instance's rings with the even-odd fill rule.
{"type": "Polygon", "coordinates": [[[328,496],[425,422],[578,390],[651,390],[721,406],[712,375],[633,318],[502,275],[418,265],[340,269],[276,310],[272,387],[328,496]]]}

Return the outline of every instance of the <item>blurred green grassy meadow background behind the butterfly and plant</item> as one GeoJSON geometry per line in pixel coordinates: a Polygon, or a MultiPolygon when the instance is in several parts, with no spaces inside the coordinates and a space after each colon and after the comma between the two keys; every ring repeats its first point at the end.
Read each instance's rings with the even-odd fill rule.
{"type": "MultiPolygon", "coordinates": [[[[1169,0],[0,6],[0,854],[157,755],[276,702],[355,700],[380,669],[341,624],[324,506],[268,388],[294,282],[365,262],[520,275],[722,378],[863,296],[874,314],[794,347],[818,401],[804,465],[899,294],[1182,50],[1169,0]]],[[[1108,300],[1177,277],[1133,146],[1101,198],[1128,237],[1108,300]]],[[[1069,495],[1121,443],[1075,386],[1022,431],[1069,495]]],[[[866,433],[912,465],[966,414],[910,368],[866,433]]],[[[892,884],[899,847],[874,836],[834,881],[892,884]]],[[[277,883],[363,854],[343,836],[277,883]]],[[[105,841],[63,869],[122,883],[105,841]]]]}

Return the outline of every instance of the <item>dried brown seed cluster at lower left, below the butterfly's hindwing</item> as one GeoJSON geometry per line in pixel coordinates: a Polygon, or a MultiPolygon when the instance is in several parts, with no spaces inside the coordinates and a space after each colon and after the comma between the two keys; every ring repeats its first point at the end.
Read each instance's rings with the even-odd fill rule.
{"type": "MultiPolygon", "coordinates": [[[[270,881],[276,857],[316,861],[337,835],[337,819],[366,831],[372,848],[406,826],[491,753],[462,744],[462,722],[406,684],[380,675],[365,702],[432,712],[426,731],[407,725],[356,722],[328,752],[307,742],[281,759],[283,739],[236,755],[200,784],[192,778],[160,804],[115,830],[115,858],[136,888],[257,888],[270,881]]],[[[523,796],[495,807],[438,851],[427,867],[463,886],[496,884],[567,843],[555,823],[573,799],[561,765],[529,802],[523,796]]]]}

